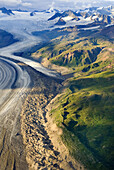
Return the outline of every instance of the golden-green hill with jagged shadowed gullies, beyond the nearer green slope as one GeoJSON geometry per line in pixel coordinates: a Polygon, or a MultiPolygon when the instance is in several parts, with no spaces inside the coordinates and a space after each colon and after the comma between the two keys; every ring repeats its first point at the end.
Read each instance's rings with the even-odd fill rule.
{"type": "Polygon", "coordinates": [[[67,37],[51,40],[48,45],[34,53],[34,57],[47,58],[52,64],[77,69],[94,62],[112,62],[114,53],[111,49],[113,49],[113,42],[102,36],[80,38],[72,33],[67,37]]]}

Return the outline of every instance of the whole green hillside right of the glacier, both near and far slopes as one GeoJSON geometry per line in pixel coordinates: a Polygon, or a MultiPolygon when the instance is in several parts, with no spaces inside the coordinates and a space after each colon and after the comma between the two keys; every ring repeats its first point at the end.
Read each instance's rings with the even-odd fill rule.
{"type": "MultiPolygon", "coordinates": [[[[110,29],[110,28],[109,28],[110,29]]],[[[74,31],[57,37],[33,54],[70,69],[50,116],[63,129],[71,155],[87,169],[112,170],[114,157],[114,45],[112,30],[74,31]],[[82,35],[82,34],[81,34],[82,35]],[[71,71],[72,70],[72,71],[71,71]]],[[[61,69],[61,67],[60,67],[61,69]]]]}

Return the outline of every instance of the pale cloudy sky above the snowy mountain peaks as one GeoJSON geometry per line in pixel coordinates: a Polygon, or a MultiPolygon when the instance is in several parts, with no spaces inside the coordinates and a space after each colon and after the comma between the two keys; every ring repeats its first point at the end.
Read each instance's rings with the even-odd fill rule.
{"type": "Polygon", "coordinates": [[[82,9],[114,5],[114,0],[0,0],[0,7],[21,9],[82,9]]]}

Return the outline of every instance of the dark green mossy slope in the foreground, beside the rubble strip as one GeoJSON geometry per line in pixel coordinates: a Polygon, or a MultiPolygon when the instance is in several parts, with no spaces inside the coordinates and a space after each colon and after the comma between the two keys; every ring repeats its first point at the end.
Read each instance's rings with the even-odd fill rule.
{"type": "Polygon", "coordinates": [[[111,71],[74,78],[51,112],[70,153],[87,169],[113,167],[113,84],[111,71]]]}

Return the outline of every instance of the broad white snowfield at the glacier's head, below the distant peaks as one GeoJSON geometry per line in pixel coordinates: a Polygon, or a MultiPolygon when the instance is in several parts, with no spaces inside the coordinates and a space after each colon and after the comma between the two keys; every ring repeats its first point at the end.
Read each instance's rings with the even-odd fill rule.
{"type": "Polygon", "coordinates": [[[15,15],[0,15],[0,29],[12,33],[19,39],[23,39],[26,35],[31,35],[31,32],[33,31],[51,30],[54,28],[82,25],[93,22],[90,18],[83,19],[83,17],[80,17],[80,21],[72,21],[73,18],[68,16],[63,17],[63,20],[67,22],[65,26],[54,26],[58,21],[58,18],[48,21],[48,19],[55,14],[54,12],[35,12],[34,16],[30,16],[30,12],[12,12],[15,15]]]}

